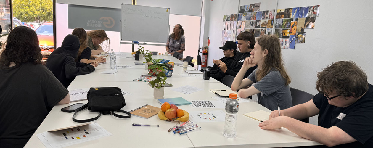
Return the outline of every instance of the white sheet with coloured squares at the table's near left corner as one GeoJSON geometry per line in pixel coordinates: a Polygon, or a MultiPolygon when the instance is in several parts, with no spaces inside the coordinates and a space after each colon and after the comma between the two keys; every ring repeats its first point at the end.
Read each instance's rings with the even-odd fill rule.
{"type": "Polygon", "coordinates": [[[105,130],[98,123],[92,123],[71,129],[43,132],[36,136],[47,148],[62,148],[110,135],[112,133],[105,130]]]}

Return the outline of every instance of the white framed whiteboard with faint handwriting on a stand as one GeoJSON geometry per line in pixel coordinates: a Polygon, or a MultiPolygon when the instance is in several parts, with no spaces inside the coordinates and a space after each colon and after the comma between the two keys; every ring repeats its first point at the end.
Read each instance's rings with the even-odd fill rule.
{"type": "Polygon", "coordinates": [[[166,43],[169,33],[168,8],[122,4],[122,41],[166,43]]]}

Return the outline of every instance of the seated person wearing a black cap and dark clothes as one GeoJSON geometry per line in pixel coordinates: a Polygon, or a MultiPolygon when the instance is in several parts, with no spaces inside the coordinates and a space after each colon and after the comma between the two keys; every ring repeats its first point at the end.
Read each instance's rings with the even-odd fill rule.
{"type": "Polygon", "coordinates": [[[223,50],[224,57],[220,60],[213,60],[214,66],[211,67],[210,76],[218,81],[220,81],[225,75],[220,72],[220,67],[217,66],[220,62],[224,62],[227,67],[230,67],[233,63],[235,54],[237,51],[237,44],[233,41],[225,42],[223,47],[220,47],[223,50]]]}

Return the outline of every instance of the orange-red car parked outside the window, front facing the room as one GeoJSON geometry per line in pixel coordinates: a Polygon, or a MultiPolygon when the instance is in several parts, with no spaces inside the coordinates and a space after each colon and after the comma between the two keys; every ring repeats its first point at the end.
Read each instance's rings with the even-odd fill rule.
{"type": "Polygon", "coordinates": [[[35,32],[39,38],[39,47],[40,52],[43,55],[43,60],[46,60],[54,50],[53,23],[43,23],[35,30],[35,32]]]}

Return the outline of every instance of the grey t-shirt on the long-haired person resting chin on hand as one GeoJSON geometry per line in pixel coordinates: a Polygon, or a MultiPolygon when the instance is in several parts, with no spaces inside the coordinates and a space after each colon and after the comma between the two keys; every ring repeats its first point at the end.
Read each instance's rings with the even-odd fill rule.
{"type": "Polygon", "coordinates": [[[258,94],[258,103],[270,110],[277,110],[277,100],[280,110],[293,106],[289,85],[277,69],[271,69],[260,81],[256,81],[255,69],[247,78],[256,84],[254,87],[261,93],[258,94]]]}

